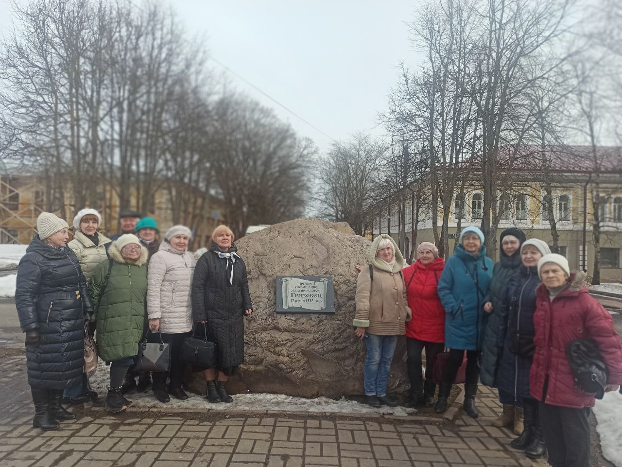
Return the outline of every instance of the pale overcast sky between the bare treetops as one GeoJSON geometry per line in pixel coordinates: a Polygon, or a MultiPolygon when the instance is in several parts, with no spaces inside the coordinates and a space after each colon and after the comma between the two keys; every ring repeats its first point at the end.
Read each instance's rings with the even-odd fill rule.
{"type": "MultiPolygon", "coordinates": [[[[188,34],[205,37],[211,55],[333,139],[379,134],[396,65],[419,62],[407,26],[421,0],[178,0],[188,34]]],[[[141,0],[134,0],[138,5],[141,0]]],[[[23,3],[26,3],[24,1],[23,3]]],[[[10,26],[0,0],[0,28],[10,26]]],[[[219,69],[216,63],[211,65],[219,69]]],[[[222,68],[220,68],[222,70],[222,68]]],[[[235,76],[231,83],[275,109],[320,148],[330,139],[235,76]]]]}

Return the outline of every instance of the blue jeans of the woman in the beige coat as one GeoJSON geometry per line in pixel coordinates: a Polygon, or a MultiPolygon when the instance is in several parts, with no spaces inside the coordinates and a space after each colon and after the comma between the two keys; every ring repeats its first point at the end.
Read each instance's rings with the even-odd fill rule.
{"type": "Polygon", "coordinates": [[[387,379],[391,360],[397,346],[397,336],[378,336],[365,333],[367,358],[365,360],[365,395],[387,395],[387,379]]]}

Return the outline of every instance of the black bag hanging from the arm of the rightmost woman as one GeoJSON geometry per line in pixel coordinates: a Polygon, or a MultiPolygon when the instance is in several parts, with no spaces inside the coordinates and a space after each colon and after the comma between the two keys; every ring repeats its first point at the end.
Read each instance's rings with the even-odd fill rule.
{"type": "Polygon", "coordinates": [[[593,340],[577,339],[568,344],[566,355],[575,376],[575,385],[592,392],[596,399],[605,395],[609,370],[593,340]]]}

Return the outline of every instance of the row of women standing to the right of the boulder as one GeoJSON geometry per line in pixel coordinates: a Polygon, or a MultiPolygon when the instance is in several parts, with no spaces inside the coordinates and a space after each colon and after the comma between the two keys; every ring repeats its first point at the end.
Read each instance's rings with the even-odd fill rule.
{"type": "Polygon", "coordinates": [[[470,226],[447,262],[434,244],[423,242],[417,261],[406,266],[391,236],[374,239],[368,267],[357,266],[353,321],[367,349],[366,400],[374,407],[397,405],[387,383],[397,340],[406,335],[408,405],[445,412],[464,366],[466,415],[480,414],[475,396],[481,381],[498,389],[503,412],[492,423],[513,428],[514,448],[530,458],[548,451],[553,467],[587,467],[595,394],[575,381],[567,348],[592,340],[608,368],[604,391],[618,390],[622,346],[613,319],[589,294],[582,275],[572,274],[565,257],[552,254],[544,241],[511,228],[500,243],[500,260],[493,264],[484,234],[470,226]],[[445,364],[435,399],[437,360],[445,364]]]}

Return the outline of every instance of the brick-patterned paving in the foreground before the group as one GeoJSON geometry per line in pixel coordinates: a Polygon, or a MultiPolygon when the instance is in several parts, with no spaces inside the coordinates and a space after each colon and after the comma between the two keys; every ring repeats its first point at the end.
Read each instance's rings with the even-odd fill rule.
{"type": "Polygon", "coordinates": [[[484,388],[478,420],[350,414],[233,414],[80,410],[60,430],[32,428],[25,358],[0,361],[2,467],[474,467],[542,466],[508,448],[513,434],[491,427],[499,412],[484,388]],[[4,391],[8,393],[8,391],[4,391]]]}

